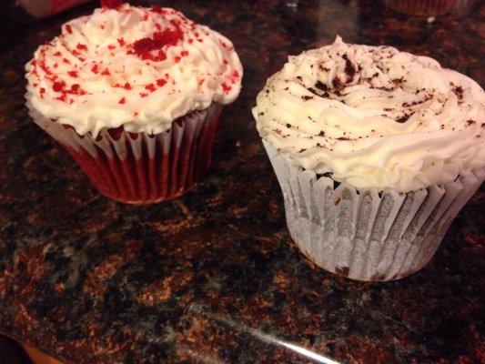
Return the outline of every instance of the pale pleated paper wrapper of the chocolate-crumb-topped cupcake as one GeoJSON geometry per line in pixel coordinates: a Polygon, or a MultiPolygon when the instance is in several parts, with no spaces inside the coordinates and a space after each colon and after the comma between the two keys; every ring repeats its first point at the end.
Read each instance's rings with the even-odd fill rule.
{"type": "Polygon", "coordinates": [[[485,178],[482,168],[408,193],[358,191],[347,183],[334,188],[330,177],[317,177],[263,144],[298,248],[319,267],[352,279],[399,279],[424,267],[485,178]]]}

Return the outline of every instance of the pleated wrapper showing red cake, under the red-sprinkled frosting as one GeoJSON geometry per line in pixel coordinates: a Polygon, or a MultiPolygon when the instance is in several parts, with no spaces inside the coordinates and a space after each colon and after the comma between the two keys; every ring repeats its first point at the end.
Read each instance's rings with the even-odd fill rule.
{"type": "MultiPolygon", "coordinates": [[[[28,96],[27,96],[28,99],[28,96]]],[[[193,111],[157,135],[102,130],[94,138],[45,119],[27,102],[35,123],[61,143],[99,192],[120,202],[148,204],[194,187],[210,166],[222,106],[193,111]]]]}

